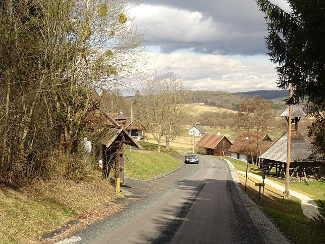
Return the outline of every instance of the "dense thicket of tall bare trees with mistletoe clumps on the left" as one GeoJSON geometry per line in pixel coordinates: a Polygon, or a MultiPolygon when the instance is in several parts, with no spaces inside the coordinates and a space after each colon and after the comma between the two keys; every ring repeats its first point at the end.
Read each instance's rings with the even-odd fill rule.
{"type": "Polygon", "coordinates": [[[0,177],[58,172],[58,156],[71,171],[96,90],[128,85],[146,62],[129,3],[0,3],[0,177]]]}

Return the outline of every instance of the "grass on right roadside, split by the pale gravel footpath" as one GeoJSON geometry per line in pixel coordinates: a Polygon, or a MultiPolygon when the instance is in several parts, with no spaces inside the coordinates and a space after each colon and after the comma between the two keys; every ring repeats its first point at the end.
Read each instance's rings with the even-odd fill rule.
{"type": "MultiPolygon", "coordinates": [[[[236,159],[227,158],[239,171],[246,172],[246,165],[251,173],[261,175],[256,166],[241,162],[236,159]]],[[[245,176],[238,174],[241,187],[245,188],[245,176]]],[[[274,178],[269,178],[275,180],[274,178]]],[[[277,180],[283,183],[283,180],[277,180]]],[[[263,202],[258,201],[258,186],[260,181],[248,177],[246,193],[256,202],[294,241],[294,243],[322,243],[325,239],[324,225],[315,223],[303,215],[301,201],[297,198],[283,199],[283,192],[268,185],[264,188],[263,202]]],[[[303,191],[313,195],[312,199],[325,202],[325,182],[290,182],[290,189],[303,191]]],[[[325,211],[320,210],[324,214],[325,211]]]]}

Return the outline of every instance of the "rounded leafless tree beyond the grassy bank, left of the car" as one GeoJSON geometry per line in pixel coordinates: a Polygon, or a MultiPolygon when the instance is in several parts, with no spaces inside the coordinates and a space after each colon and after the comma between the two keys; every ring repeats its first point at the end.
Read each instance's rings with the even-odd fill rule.
{"type": "Polygon", "coordinates": [[[189,108],[185,105],[186,97],[183,82],[174,74],[155,74],[143,82],[142,95],[138,93],[135,97],[137,117],[154,136],[158,152],[163,137],[168,150],[170,141],[184,131],[189,108]]]}

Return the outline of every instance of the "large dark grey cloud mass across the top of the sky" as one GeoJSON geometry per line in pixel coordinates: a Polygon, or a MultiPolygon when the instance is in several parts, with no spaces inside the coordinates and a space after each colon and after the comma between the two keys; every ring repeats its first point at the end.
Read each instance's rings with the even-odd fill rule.
{"type": "Polygon", "coordinates": [[[146,0],[143,5],[153,6],[148,16],[150,11],[162,11],[136,19],[138,28],[145,30],[146,44],[159,46],[163,53],[186,49],[200,54],[250,56],[267,52],[266,22],[254,0],[146,0]]]}

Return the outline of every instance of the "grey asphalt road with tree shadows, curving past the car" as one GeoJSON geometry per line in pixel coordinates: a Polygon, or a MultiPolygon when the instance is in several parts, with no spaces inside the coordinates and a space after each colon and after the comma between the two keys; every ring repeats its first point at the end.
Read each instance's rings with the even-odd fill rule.
{"type": "Polygon", "coordinates": [[[123,211],[66,243],[265,243],[218,158],[200,156],[199,165],[153,181],[127,179],[122,190],[130,202],[123,211]]]}

